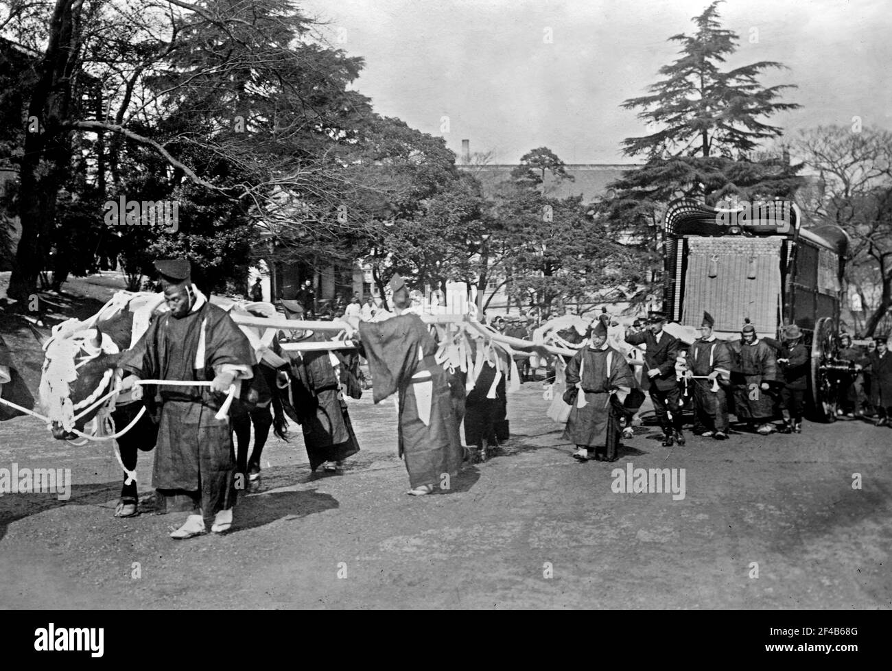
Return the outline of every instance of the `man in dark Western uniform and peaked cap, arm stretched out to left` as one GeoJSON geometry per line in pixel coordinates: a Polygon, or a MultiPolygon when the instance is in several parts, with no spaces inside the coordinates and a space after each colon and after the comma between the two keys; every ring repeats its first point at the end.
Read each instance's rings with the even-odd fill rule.
{"type": "Polygon", "coordinates": [[[684,444],[681,433],[681,390],[675,377],[675,360],[678,358],[679,340],[663,330],[665,316],[651,311],[648,330],[625,336],[625,342],[645,345],[645,368],[641,373],[641,387],[650,394],[657,420],[663,428],[663,446],[672,447],[673,441],[684,444]]]}

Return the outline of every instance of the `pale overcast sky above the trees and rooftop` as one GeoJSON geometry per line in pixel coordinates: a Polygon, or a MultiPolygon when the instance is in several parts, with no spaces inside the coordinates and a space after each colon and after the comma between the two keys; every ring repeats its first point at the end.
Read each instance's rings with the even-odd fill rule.
{"type": "MultiPolygon", "coordinates": [[[[632,162],[624,137],[644,134],[619,105],[643,95],[692,32],[707,0],[298,0],[330,21],[329,39],[365,58],[356,88],[376,111],[446,138],[458,153],[517,162],[546,145],[568,163],[632,162]],[[553,42],[544,40],[551,29],[553,42]],[[441,132],[448,116],[450,130],[441,132]]],[[[739,35],[731,66],[779,61],[766,84],[796,84],[802,104],[772,122],[798,128],[853,116],[892,128],[892,4],[888,0],[728,0],[739,35]],[[756,32],[757,31],[757,32],[756,32]],[[756,42],[751,42],[751,36],[756,42]]]]}

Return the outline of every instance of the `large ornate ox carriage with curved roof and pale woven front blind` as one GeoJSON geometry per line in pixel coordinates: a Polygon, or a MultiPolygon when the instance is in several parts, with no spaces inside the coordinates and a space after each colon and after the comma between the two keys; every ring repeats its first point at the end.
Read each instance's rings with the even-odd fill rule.
{"type": "Polygon", "coordinates": [[[839,385],[855,375],[838,359],[848,242],[836,226],[803,228],[789,201],[734,208],[676,201],[663,230],[667,319],[693,330],[709,311],[715,335],[726,340],[739,337],[744,319],[760,337],[778,339],[796,324],[811,351],[810,410],[833,421],[839,385]]]}

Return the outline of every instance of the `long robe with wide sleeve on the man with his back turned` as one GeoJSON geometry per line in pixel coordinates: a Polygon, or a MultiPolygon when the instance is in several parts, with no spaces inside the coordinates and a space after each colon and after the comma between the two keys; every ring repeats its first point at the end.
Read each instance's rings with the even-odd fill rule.
{"type": "Polygon", "coordinates": [[[373,400],[399,392],[399,453],[409,484],[439,486],[456,476],[464,459],[450,386],[434,359],[436,344],[424,322],[403,314],[359,323],[359,337],[372,373],[373,400]]]}

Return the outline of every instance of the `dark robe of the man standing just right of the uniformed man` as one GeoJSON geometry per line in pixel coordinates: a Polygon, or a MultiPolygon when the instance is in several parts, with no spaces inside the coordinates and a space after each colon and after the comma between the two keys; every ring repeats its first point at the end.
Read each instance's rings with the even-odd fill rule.
{"type": "Polygon", "coordinates": [[[711,340],[698,338],[690,345],[688,366],[697,377],[718,372],[719,388],[712,391],[709,380],[691,380],[694,385],[694,433],[706,431],[728,432],[728,399],[725,389],[731,380],[731,351],[728,344],[712,337],[711,340]]]}

